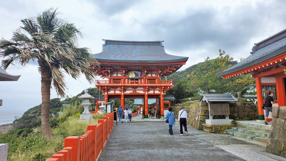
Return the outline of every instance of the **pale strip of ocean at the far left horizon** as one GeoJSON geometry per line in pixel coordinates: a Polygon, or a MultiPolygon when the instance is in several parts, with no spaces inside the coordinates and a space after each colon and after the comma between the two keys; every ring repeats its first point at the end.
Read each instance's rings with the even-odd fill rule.
{"type": "MultiPolygon", "coordinates": [[[[1,108],[1,107],[0,107],[1,108]]],[[[15,117],[22,117],[25,111],[13,110],[13,111],[1,111],[0,110],[0,125],[13,123],[15,117]]]]}

